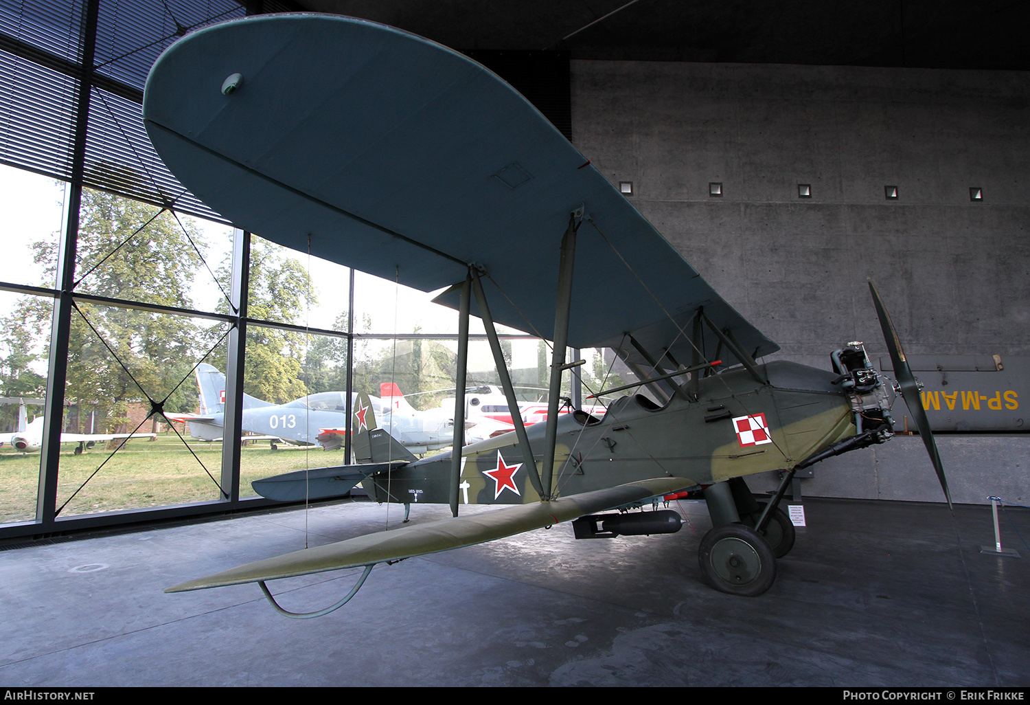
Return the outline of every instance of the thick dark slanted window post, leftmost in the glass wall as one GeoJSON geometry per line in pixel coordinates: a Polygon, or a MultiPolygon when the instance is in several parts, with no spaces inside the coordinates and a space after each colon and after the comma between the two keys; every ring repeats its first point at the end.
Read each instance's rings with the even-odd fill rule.
{"type": "Polygon", "coordinates": [[[36,494],[36,522],[53,526],[57,508],[58,471],[61,463],[61,430],[64,422],[65,380],[68,375],[68,339],[71,334],[72,288],[75,281],[75,250],[78,240],[79,206],[85,165],[93,58],[97,44],[100,0],[87,0],[82,36],[82,65],[78,76],[77,114],[72,152],[72,177],[68,187],[68,211],[61,258],[58,262],[59,294],[50,322],[49,368],[46,377],[46,406],[43,410],[43,438],[39,460],[39,489],[36,494]]]}

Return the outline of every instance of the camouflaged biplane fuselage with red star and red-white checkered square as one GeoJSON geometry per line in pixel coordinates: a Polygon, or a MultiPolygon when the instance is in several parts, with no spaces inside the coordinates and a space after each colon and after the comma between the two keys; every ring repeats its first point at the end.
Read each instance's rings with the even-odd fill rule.
{"type": "MultiPolygon", "coordinates": [[[[603,418],[578,411],[558,418],[552,486],[559,496],[655,477],[699,485],[791,468],[855,433],[834,374],[777,361],[698,380],[697,398],[675,395],[659,406],[642,395],[613,403],[603,418]]],[[[546,424],[526,429],[542,467],[546,424]]],[[[539,500],[514,433],[462,449],[458,502],[520,504],[539,500]]],[[[380,501],[447,503],[450,451],[363,483],[380,501]],[[388,485],[388,488],[387,488],[388,485]]]]}

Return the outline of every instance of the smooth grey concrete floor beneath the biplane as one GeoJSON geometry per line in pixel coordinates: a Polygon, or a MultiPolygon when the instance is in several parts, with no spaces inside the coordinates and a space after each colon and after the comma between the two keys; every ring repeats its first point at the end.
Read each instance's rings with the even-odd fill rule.
{"type": "MultiPolygon", "coordinates": [[[[576,541],[568,525],[373,570],[342,609],[276,614],[256,585],[165,595],[242,563],[382,528],[346,501],[0,551],[0,685],[1030,684],[1030,550],[991,510],[805,499],[771,590],[700,582],[703,503],[656,537],[576,541]]],[[[414,507],[414,523],[446,507],[414,507]]],[[[1030,538],[1030,511],[1009,509],[1030,538]]],[[[390,526],[402,511],[389,508],[390,526]]],[[[398,525],[399,526],[399,525],[398,525]]],[[[287,609],[356,573],[272,584],[287,609]]]]}

